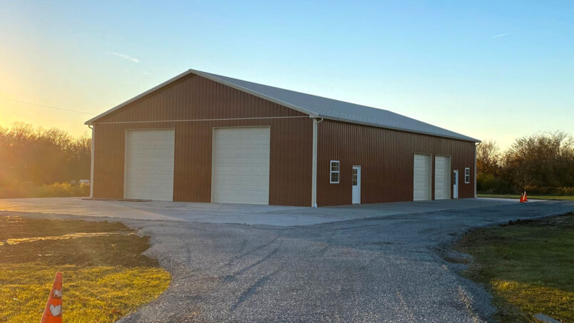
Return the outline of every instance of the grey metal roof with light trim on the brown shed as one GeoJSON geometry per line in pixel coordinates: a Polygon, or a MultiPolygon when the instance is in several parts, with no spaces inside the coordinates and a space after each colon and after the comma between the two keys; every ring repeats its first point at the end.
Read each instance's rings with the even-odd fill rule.
{"type": "Polygon", "coordinates": [[[373,125],[381,128],[403,130],[412,133],[424,133],[427,135],[466,140],[474,143],[480,142],[478,139],[461,135],[460,133],[455,133],[451,130],[446,130],[444,128],[437,127],[436,125],[424,123],[413,118],[402,116],[399,113],[191,69],[165,83],[160,84],[159,86],[156,86],[155,88],[150,89],[149,91],[146,91],[145,93],[140,94],[140,96],[136,96],[135,98],[122,103],[120,106],[116,106],[110,111],[106,111],[106,113],[102,113],[100,116],[96,116],[95,118],[86,121],[86,124],[91,124],[93,121],[96,121],[108,113],[111,113],[112,111],[115,111],[118,108],[121,108],[128,103],[167,85],[168,83],[176,81],[179,78],[183,78],[190,73],[209,78],[212,81],[223,83],[227,86],[231,86],[232,88],[237,88],[240,91],[245,91],[255,96],[259,96],[260,98],[265,98],[283,106],[293,108],[294,110],[306,113],[313,118],[325,118],[350,123],[373,125]]]}

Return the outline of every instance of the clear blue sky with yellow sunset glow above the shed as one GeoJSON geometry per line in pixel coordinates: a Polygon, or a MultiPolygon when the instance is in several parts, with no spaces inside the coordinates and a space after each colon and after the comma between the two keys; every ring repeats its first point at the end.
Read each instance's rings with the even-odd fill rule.
{"type": "Polygon", "coordinates": [[[4,1],[0,124],[77,135],[188,68],[505,147],[574,124],[574,1],[4,1]],[[10,99],[10,100],[9,100],[10,99]]]}

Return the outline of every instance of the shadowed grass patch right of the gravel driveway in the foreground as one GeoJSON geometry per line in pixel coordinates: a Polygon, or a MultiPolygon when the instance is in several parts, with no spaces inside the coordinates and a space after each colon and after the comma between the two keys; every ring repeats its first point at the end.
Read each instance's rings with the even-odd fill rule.
{"type": "Polygon", "coordinates": [[[498,321],[574,322],[574,213],[479,228],[456,250],[473,256],[465,275],[490,289],[498,321]]]}

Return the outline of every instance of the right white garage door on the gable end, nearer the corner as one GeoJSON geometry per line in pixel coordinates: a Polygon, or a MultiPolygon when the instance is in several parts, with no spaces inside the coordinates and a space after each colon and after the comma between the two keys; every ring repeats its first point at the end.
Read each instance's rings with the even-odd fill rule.
{"type": "Polygon", "coordinates": [[[212,202],[269,204],[270,128],[214,128],[212,202]]]}

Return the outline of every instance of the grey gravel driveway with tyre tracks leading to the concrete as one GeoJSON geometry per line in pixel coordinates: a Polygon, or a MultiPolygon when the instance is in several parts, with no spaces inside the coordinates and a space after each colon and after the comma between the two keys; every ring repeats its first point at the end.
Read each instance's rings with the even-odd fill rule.
{"type": "Polygon", "coordinates": [[[471,227],[573,210],[547,201],[303,227],[123,220],[173,275],[123,322],[488,322],[488,294],[439,254],[471,227]]]}

